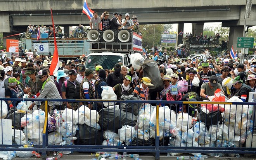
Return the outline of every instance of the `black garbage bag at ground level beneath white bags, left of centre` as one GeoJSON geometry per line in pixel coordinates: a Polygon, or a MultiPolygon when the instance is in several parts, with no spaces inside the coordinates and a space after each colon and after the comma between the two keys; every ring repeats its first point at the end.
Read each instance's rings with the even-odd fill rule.
{"type": "Polygon", "coordinates": [[[76,133],[76,145],[102,145],[101,130],[87,126],[86,124],[78,124],[79,132],[76,133]]]}

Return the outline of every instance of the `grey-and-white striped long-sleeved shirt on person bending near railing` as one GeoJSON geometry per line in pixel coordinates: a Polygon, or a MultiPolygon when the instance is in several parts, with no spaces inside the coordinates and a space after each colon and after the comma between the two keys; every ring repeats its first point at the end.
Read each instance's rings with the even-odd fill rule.
{"type": "MultiPolygon", "coordinates": [[[[40,90],[40,95],[37,98],[47,98],[47,99],[62,99],[59,91],[52,79],[49,79],[42,90],[40,90]]],[[[38,105],[38,101],[35,101],[35,104],[38,105]]],[[[62,105],[62,102],[51,102],[48,101],[49,106],[62,105]]]]}

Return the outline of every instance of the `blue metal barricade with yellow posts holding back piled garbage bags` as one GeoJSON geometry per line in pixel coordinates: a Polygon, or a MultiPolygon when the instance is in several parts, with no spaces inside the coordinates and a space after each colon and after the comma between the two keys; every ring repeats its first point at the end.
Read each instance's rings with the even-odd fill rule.
{"type": "MultiPolygon", "coordinates": [[[[160,153],[167,153],[167,156],[204,153],[219,157],[256,153],[253,144],[256,102],[26,100],[45,102],[45,111],[48,112],[45,112],[44,123],[40,123],[40,116],[38,123],[38,128],[44,126],[38,131],[40,136],[42,133],[42,143],[40,140],[38,144],[34,143],[35,148],[17,148],[22,143],[2,144],[2,151],[13,150],[7,147],[14,147],[16,151],[40,151],[43,158],[48,151],[152,152],[156,159],[160,159],[160,153]],[[66,102],[73,108],[77,107],[76,110],[63,107],[66,102]],[[83,105],[88,102],[94,103],[93,109],[83,105]],[[164,107],[159,107],[160,104],[164,107]]],[[[34,112],[40,115],[40,111],[34,112]]],[[[36,121],[33,114],[25,115],[36,121]]],[[[30,123],[26,119],[25,127],[31,124],[37,127],[35,121],[30,123]]],[[[32,136],[26,135],[35,141],[36,132],[32,136]]],[[[28,145],[30,138],[26,140],[28,145]]]]}

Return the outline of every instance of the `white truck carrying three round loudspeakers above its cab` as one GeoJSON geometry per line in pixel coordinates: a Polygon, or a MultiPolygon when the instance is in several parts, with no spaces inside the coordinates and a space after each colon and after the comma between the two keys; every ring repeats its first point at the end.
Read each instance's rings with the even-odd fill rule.
{"type": "MultiPolygon", "coordinates": [[[[112,33],[111,30],[100,32],[102,37],[98,42],[94,42],[92,33],[88,30],[87,38],[90,43],[90,53],[88,54],[85,66],[94,70],[95,64],[99,64],[104,69],[112,69],[116,63],[130,65],[129,54],[140,53],[142,50],[142,36],[130,30],[118,30],[112,33]],[[105,34],[104,34],[105,33],[105,34]],[[107,33],[107,34],[106,34],[107,33]],[[109,35],[110,34],[110,35],[109,35]],[[109,37],[116,35],[109,41],[109,37]]],[[[93,31],[93,33],[96,33],[93,31]]],[[[97,33],[96,33],[97,34],[97,33]]]]}

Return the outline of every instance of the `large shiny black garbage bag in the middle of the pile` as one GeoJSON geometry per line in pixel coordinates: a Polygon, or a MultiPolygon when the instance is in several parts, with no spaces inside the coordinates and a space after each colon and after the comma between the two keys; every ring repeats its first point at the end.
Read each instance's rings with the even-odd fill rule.
{"type": "Polygon", "coordinates": [[[135,126],[137,123],[137,116],[130,112],[124,112],[116,107],[107,107],[99,112],[99,124],[103,131],[112,131],[118,133],[118,129],[123,125],[135,126]]]}

